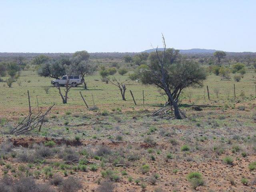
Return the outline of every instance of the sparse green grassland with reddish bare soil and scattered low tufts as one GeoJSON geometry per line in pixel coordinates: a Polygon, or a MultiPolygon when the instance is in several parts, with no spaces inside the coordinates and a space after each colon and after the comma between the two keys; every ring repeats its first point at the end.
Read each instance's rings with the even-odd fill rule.
{"type": "MultiPolygon", "coordinates": [[[[127,101],[122,101],[116,86],[101,82],[94,74],[86,78],[88,90],[72,88],[68,104],[62,104],[55,87],[48,94],[43,89],[50,86],[50,78],[23,71],[21,86],[14,82],[9,88],[0,82],[0,178],[33,176],[36,183],[48,184],[56,191],[72,191],[69,182],[79,192],[111,188],[130,192],[255,191],[256,97],[255,84],[249,80],[252,75],[247,72],[235,82],[210,74],[204,87],[184,90],[180,108],[188,118],[175,120],[146,116],[165,102],[154,86],[129,82],[127,101]],[[36,95],[39,107],[56,105],[41,132],[11,136],[8,130],[28,114],[27,90],[35,111],[36,95]],[[99,110],[88,110],[79,91],[89,106],[93,106],[93,94],[99,110]],[[93,124],[98,120],[100,123],[93,124]],[[91,125],[78,126],[84,122],[91,125]],[[69,163],[73,159],[78,161],[69,163]],[[57,178],[66,182],[55,186],[52,183],[57,178]],[[80,179],[81,186],[72,178],[80,179]]],[[[116,78],[126,80],[128,75],[116,78]]]]}

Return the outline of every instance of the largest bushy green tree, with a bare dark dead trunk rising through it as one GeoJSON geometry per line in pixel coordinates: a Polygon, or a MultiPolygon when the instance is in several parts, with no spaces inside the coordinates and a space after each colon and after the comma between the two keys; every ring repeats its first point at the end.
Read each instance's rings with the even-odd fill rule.
{"type": "Polygon", "coordinates": [[[140,74],[140,80],[143,84],[154,84],[164,90],[169,104],[174,108],[175,118],[181,119],[178,108],[180,93],[190,86],[201,87],[203,80],[206,79],[206,71],[190,60],[178,59],[180,58],[178,51],[170,49],[165,54],[165,50],[164,42],[163,52],[156,51],[149,56],[149,70],[140,74]]]}

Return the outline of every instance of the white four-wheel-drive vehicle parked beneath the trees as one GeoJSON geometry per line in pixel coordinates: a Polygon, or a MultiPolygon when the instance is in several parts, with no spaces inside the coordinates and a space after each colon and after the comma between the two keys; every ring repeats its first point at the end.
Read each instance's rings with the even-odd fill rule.
{"type": "Polygon", "coordinates": [[[69,85],[72,84],[73,87],[76,87],[83,83],[82,79],[78,75],[70,75],[70,76],[64,75],[61,79],[52,80],[51,84],[54,86],[58,86],[58,84],[60,86],[64,86],[66,85],[67,81],[68,81],[68,84],[69,85]]]}

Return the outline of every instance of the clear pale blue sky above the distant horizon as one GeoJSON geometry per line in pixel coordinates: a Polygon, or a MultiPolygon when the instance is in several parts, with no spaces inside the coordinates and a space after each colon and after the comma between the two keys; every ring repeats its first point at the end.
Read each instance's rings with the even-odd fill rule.
{"type": "Polygon", "coordinates": [[[0,0],[0,52],[256,52],[255,0],[0,0]],[[152,46],[151,46],[152,45],[152,46]]]}

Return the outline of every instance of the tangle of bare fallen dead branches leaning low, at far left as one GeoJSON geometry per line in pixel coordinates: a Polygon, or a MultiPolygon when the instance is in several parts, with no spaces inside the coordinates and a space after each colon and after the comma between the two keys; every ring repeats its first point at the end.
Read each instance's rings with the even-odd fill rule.
{"type": "Polygon", "coordinates": [[[50,106],[48,110],[46,110],[46,112],[42,112],[42,108],[38,111],[38,113],[34,115],[33,112],[31,112],[22,120],[22,122],[20,122],[20,124],[18,124],[10,131],[10,134],[19,135],[25,132],[33,131],[38,127],[40,129],[41,126],[44,124],[43,119],[47,116],[53,106],[54,104],[50,106]]]}

